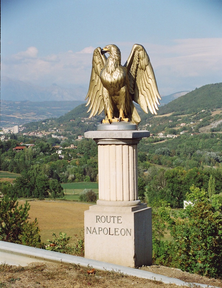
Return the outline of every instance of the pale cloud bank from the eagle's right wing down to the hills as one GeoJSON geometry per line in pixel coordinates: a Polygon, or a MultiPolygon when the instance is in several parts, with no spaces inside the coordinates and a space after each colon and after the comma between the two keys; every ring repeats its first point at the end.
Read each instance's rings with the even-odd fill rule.
{"type": "Polygon", "coordinates": [[[162,95],[222,81],[222,38],[176,39],[144,45],[162,95]]]}

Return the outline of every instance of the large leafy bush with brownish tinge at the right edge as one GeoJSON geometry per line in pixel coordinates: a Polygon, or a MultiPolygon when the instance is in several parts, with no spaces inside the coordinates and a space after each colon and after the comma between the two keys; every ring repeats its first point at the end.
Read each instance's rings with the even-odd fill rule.
{"type": "Polygon", "coordinates": [[[210,277],[222,274],[222,211],[212,205],[204,189],[191,186],[187,205],[170,219],[170,232],[176,242],[178,268],[210,277]]]}

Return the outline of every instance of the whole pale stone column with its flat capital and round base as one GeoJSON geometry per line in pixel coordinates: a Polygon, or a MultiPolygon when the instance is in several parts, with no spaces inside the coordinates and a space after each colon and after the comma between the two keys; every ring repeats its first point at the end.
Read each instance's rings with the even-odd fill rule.
{"type": "Polygon", "coordinates": [[[148,131],[89,131],[98,144],[99,199],[102,206],[136,206],[138,200],[137,144],[148,131]]]}

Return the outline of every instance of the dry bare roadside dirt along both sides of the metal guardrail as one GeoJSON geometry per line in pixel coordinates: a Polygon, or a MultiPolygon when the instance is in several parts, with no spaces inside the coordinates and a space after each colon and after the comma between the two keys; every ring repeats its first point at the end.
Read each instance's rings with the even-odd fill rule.
{"type": "MultiPolygon", "coordinates": [[[[116,272],[95,271],[95,274],[88,274],[90,268],[80,266],[64,266],[60,264],[32,263],[29,266],[0,266],[0,287],[1,288],[176,288],[182,287],[175,284],[164,284],[162,282],[136,278],[119,274],[116,272]]],[[[208,279],[206,277],[182,272],[178,269],[163,266],[144,267],[153,273],[160,273],[169,277],[181,279],[186,282],[196,282],[216,287],[222,287],[222,281],[208,279]]],[[[198,287],[192,285],[192,287],[198,287]]]]}

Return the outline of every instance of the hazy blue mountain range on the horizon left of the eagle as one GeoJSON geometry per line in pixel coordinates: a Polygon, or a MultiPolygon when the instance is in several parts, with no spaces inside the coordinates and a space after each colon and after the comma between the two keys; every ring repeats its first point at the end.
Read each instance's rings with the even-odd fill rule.
{"type": "Polygon", "coordinates": [[[1,77],[1,100],[5,101],[84,101],[87,88],[63,88],[57,84],[40,87],[11,78],[1,77]]]}

